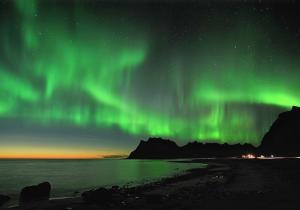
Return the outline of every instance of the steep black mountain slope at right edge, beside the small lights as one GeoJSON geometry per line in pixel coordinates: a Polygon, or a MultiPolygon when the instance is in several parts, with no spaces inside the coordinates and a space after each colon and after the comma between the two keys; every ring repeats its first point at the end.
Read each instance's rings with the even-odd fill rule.
{"type": "Polygon", "coordinates": [[[263,137],[262,153],[277,156],[300,156],[300,107],[279,114],[263,137]]]}

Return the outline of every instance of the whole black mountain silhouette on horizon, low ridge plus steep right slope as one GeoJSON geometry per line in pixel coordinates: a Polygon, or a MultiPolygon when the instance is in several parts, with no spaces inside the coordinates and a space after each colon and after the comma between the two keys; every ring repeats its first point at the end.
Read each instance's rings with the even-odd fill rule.
{"type": "Polygon", "coordinates": [[[175,142],[163,138],[149,138],[141,141],[130,153],[129,159],[171,159],[240,157],[243,154],[300,156],[300,107],[279,114],[270,130],[256,148],[251,144],[217,144],[190,142],[179,147],[175,142]]]}

